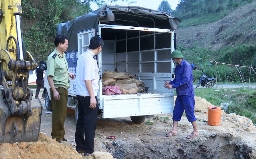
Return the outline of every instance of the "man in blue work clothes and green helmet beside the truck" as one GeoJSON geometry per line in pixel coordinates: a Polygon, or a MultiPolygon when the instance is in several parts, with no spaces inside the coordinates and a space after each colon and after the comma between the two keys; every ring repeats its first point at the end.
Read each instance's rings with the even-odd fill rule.
{"type": "Polygon", "coordinates": [[[196,117],[194,114],[195,108],[195,94],[193,88],[193,75],[192,67],[190,63],[185,61],[184,56],[178,50],[175,50],[171,54],[175,67],[175,78],[164,84],[165,88],[176,88],[177,98],[173,110],[173,127],[172,131],[166,133],[165,136],[170,137],[177,134],[178,121],[181,120],[182,114],[185,110],[186,117],[191,122],[194,131],[187,136],[188,139],[193,139],[198,136],[198,127],[196,124],[196,117]]]}

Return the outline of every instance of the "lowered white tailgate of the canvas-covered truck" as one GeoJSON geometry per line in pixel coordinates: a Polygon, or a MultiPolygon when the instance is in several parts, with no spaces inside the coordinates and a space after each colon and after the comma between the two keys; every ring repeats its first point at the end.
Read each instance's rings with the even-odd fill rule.
{"type": "Polygon", "coordinates": [[[173,94],[166,92],[102,95],[102,97],[102,118],[166,114],[173,111],[173,94]]]}

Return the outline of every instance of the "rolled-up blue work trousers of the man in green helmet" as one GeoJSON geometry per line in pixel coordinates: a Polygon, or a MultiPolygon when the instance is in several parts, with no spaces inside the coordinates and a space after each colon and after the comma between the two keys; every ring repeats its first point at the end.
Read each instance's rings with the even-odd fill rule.
{"type": "Polygon", "coordinates": [[[172,120],[180,121],[185,110],[186,117],[189,122],[196,121],[194,114],[195,109],[195,95],[190,90],[188,95],[177,96],[173,110],[172,120]]]}

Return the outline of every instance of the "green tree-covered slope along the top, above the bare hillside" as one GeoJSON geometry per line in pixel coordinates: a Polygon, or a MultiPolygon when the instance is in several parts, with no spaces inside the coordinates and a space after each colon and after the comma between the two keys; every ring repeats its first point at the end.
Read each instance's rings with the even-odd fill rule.
{"type": "Polygon", "coordinates": [[[181,0],[172,15],[182,19],[179,27],[197,26],[216,22],[248,2],[252,0],[181,0]]]}

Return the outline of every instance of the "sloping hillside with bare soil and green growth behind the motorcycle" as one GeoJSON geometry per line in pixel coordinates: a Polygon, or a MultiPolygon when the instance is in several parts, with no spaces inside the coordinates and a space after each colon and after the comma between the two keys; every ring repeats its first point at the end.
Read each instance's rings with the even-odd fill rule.
{"type": "MultiPolygon", "coordinates": [[[[214,18],[213,14],[207,14],[183,20],[183,24],[176,30],[178,49],[184,53],[187,61],[193,61],[198,66],[203,61],[217,61],[256,67],[255,8],[256,0],[237,7],[226,15],[217,13],[214,18]],[[201,59],[198,60],[198,57],[201,59]]],[[[219,67],[222,67],[221,79],[230,82],[230,79],[235,78],[233,82],[242,82],[236,67],[219,67]]],[[[201,72],[216,74],[215,66],[198,68],[201,72]]],[[[239,69],[246,81],[256,81],[256,74],[253,71],[250,74],[250,69],[239,69]]],[[[200,76],[200,73],[198,75],[200,76]]]]}

